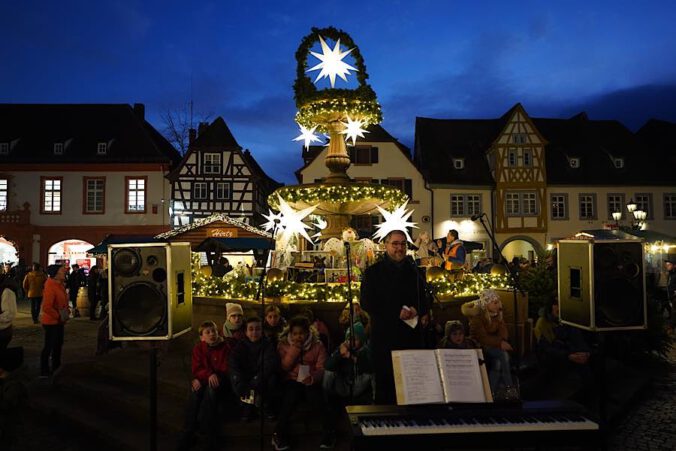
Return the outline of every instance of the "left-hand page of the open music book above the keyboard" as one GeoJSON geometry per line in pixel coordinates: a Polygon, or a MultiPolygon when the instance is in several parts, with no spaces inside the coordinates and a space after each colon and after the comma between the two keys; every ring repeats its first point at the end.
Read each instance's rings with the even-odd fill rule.
{"type": "Polygon", "coordinates": [[[392,351],[392,365],[397,404],[444,402],[434,351],[392,351]]]}

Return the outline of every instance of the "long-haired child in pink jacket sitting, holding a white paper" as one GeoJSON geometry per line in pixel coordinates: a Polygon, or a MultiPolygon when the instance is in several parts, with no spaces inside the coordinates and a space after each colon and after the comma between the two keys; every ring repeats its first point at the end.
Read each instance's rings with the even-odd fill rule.
{"type": "Polygon", "coordinates": [[[315,330],[310,330],[310,321],[305,316],[296,316],[279,337],[277,351],[281,359],[282,402],[279,420],[272,434],[275,450],[289,449],[289,420],[296,406],[305,396],[322,412],[324,438],[322,448],[331,448],[335,443],[335,421],[327,415],[326,402],[321,389],[326,350],[315,330]]]}

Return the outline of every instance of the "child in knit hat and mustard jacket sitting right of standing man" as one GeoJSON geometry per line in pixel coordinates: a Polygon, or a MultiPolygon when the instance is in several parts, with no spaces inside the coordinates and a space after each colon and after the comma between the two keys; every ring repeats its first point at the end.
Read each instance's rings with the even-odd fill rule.
{"type": "Polygon", "coordinates": [[[507,341],[507,325],[502,318],[500,297],[495,290],[484,290],[477,301],[463,304],[461,311],[469,317],[470,337],[479,342],[484,350],[489,370],[488,380],[494,397],[518,397],[512,385],[508,352],[513,349],[507,341]]]}

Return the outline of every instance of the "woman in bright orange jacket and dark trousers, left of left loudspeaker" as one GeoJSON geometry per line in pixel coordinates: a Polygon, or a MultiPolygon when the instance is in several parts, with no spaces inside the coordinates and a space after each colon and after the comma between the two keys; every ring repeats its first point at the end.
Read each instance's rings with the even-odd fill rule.
{"type": "Polygon", "coordinates": [[[63,265],[49,265],[42,292],[42,328],[45,330],[45,345],[40,355],[40,377],[49,377],[61,366],[61,348],[63,346],[64,324],[70,313],[66,295],[67,268],[63,265]],[[49,357],[52,358],[52,371],[49,370],[49,357]]]}

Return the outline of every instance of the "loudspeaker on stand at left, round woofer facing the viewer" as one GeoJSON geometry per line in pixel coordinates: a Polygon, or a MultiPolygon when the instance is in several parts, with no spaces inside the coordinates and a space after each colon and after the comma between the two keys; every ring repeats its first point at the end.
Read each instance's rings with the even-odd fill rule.
{"type": "Polygon", "coordinates": [[[111,340],[170,340],[192,325],[190,243],[108,246],[111,340]]]}

